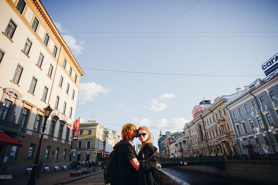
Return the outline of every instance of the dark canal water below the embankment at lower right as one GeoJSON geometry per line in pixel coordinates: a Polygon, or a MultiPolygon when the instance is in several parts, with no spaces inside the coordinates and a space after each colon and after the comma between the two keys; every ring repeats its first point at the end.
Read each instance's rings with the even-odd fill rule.
{"type": "Polygon", "coordinates": [[[187,182],[191,185],[202,185],[202,184],[225,184],[225,185],[246,185],[246,184],[252,184],[252,185],[258,185],[257,183],[251,183],[246,182],[244,180],[234,180],[230,178],[224,178],[224,177],[217,177],[212,175],[206,175],[203,173],[198,172],[192,172],[192,171],[185,171],[180,168],[162,168],[162,171],[169,173],[184,182],[187,182]]]}

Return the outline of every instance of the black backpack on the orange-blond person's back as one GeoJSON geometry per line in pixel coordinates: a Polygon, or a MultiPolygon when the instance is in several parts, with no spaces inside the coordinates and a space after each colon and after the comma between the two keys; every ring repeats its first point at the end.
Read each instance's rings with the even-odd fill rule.
{"type": "Polygon", "coordinates": [[[118,156],[120,155],[121,146],[116,147],[110,154],[107,167],[103,170],[105,184],[117,184],[118,180],[118,156]]]}

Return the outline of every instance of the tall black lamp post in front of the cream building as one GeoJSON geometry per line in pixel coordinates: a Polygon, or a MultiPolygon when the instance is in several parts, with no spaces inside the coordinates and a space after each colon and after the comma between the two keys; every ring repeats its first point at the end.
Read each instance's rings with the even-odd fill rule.
{"type": "Polygon", "coordinates": [[[41,150],[41,145],[42,145],[42,141],[43,141],[43,138],[44,138],[44,130],[46,129],[45,126],[46,126],[46,121],[48,119],[48,117],[50,116],[50,114],[52,113],[53,109],[51,109],[50,105],[48,105],[48,107],[45,107],[44,108],[44,124],[43,124],[43,127],[42,127],[42,131],[41,131],[41,135],[40,135],[40,143],[39,143],[39,146],[38,146],[38,150],[37,150],[37,153],[36,153],[36,158],[35,158],[35,161],[34,161],[34,164],[32,165],[32,171],[31,171],[31,175],[30,175],[30,178],[28,180],[28,183],[27,185],[36,185],[36,175],[37,175],[37,172],[38,172],[38,163],[39,163],[39,158],[40,158],[40,150],[41,150]]]}

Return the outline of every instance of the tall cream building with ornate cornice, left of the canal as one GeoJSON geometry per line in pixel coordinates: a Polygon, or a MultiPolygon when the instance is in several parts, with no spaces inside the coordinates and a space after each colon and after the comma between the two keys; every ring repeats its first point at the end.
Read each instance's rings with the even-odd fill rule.
{"type": "Polygon", "coordinates": [[[50,169],[66,165],[84,72],[39,0],[2,0],[0,12],[0,130],[23,144],[5,146],[0,173],[32,167],[48,105],[40,159],[50,169]]]}

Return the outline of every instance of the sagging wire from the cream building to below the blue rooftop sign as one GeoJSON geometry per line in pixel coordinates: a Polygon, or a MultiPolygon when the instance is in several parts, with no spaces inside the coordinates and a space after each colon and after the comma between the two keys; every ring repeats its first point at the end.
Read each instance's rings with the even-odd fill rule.
{"type": "MultiPolygon", "coordinates": [[[[22,60],[22,59],[16,59],[16,58],[7,57],[7,56],[4,56],[3,58],[9,58],[9,59],[14,59],[14,60],[22,60]]],[[[37,63],[37,62],[32,61],[32,60],[22,60],[22,61],[37,63]]],[[[50,64],[50,63],[44,63],[44,62],[43,62],[43,64],[50,64]]],[[[59,65],[59,66],[62,66],[61,64],[51,64],[51,65],[59,65]]],[[[83,69],[99,70],[99,71],[112,71],[112,72],[139,73],[139,74],[173,75],[173,76],[264,76],[264,75],[200,75],[200,74],[174,74],[174,73],[155,73],[155,72],[120,71],[120,70],[96,69],[96,68],[82,68],[82,70],[83,70],[83,69]]]]}

